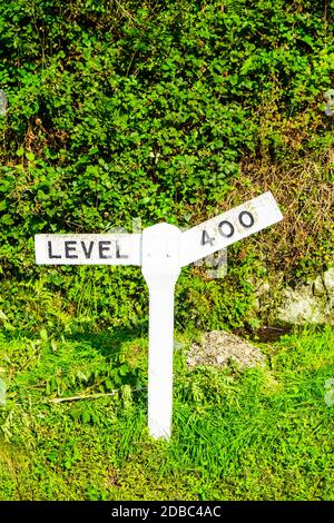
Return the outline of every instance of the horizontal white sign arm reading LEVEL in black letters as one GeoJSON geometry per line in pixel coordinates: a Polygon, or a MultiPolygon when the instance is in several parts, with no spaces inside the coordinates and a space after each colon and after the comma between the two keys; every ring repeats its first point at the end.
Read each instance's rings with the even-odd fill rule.
{"type": "Polygon", "coordinates": [[[36,263],[141,265],[141,234],[36,235],[36,263]]]}

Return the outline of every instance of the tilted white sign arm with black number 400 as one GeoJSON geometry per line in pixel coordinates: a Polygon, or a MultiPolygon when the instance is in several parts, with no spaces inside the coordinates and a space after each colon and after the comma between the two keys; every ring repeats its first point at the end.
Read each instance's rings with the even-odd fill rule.
{"type": "Polygon", "coordinates": [[[186,266],[279,221],[271,191],[204,221],[181,234],[180,264],[186,266]],[[254,221],[254,223],[253,223],[254,221]]]}

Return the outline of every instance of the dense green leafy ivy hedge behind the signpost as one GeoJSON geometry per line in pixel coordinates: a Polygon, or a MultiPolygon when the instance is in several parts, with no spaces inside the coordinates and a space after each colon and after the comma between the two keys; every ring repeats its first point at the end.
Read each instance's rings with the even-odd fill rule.
{"type": "MultiPolygon", "coordinates": [[[[278,119],[307,112],[313,131],[304,149],[314,136],[317,147],[325,144],[332,16],[333,1],[324,0],[1,2],[3,288],[9,277],[39,275],[78,295],[92,270],[101,280],[97,315],[111,323],[140,316],[131,283],[141,288],[138,272],[37,269],[33,235],[130,229],[137,217],[144,226],[202,221],[219,208],[239,160],[259,155],[264,140],[274,158],[288,157],[279,125],[263,134],[273,107],[278,119]],[[128,308],[117,310],[126,297],[128,308]]],[[[185,275],[180,293],[187,303],[198,286],[209,288],[200,313],[209,318],[210,293],[220,296],[224,285],[185,275]]],[[[232,323],[247,309],[245,285],[235,286],[232,323]]]]}

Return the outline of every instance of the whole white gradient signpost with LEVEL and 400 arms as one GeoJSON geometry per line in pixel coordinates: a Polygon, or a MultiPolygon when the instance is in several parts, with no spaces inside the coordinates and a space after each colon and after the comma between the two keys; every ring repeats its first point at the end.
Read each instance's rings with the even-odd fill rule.
{"type": "Polygon", "coordinates": [[[149,288],[148,427],[170,437],[173,414],[174,289],[181,267],[283,218],[264,193],[181,233],[157,224],[143,234],[35,236],[36,262],[47,265],[138,265],[149,288]]]}

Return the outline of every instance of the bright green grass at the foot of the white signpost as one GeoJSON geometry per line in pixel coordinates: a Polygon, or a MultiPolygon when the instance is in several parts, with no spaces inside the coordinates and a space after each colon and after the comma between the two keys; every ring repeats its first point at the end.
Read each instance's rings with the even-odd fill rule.
{"type": "Polygon", "coordinates": [[[334,500],[334,330],[262,349],[243,372],[177,351],[166,443],[146,428],[146,333],[3,332],[0,500],[334,500]],[[85,394],[112,395],[50,403],[85,394]]]}

